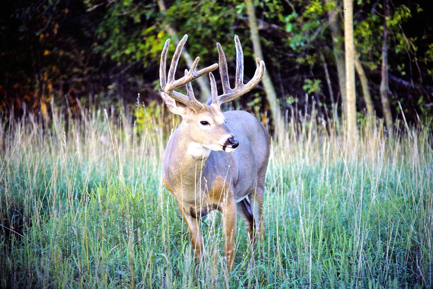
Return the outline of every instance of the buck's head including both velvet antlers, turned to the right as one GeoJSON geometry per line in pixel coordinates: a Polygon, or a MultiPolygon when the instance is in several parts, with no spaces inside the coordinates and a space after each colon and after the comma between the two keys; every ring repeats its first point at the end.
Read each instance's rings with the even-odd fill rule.
{"type": "Polygon", "coordinates": [[[171,60],[170,69],[168,70],[168,77],[166,77],[166,60],[170,39],[165,41],[159,69],[159,80],[161,83],[159,94],[168,109],[174,114],[181,115],[183,118],[185,125],[187,126],[186,131],[189,132],[189,137],[191,137],[190,146],[192,146],[192,149],[206,148],[231,152],[239,146],[239,142],[236,140],[236,136],[233,136],[229,127],[225,124],[225,117],[221,112],[220,106],[224,102],[229,102],[236,97],[244,95],[259,83],[260,79],[262,79],[263,73],[265,72],[265,63],[260,61],[259,58],[256,58],[257,68],[254,76],[248,83],[244,84],[242,46],[238,36],[235,35],[236,78],[235,88],[232,89],[229,84],[226,56],[221,45],[217,43],[216,47],[219,54],[220,76],[223,86],[223,94],[218,95],[216,81],[211,72],[218,67],[218,64],[213,64],[202,70],[196,71],[195,69],[200,57],[197,57],[194,60],[190,70],[184,71],[185,74],[183,77],[177,80],[174,79],[174,73],[176,72],[179,58],[187,38],[188,35],[185,34],[176,47],[173,59],[171,60]],[[200,103],[194,97],[191,81],[206,73],[209,73],[211,95],[206,103],[200,103]],[[181,86],[186,86],[186,95],[175,91],[175,89],[181,86]]]}

